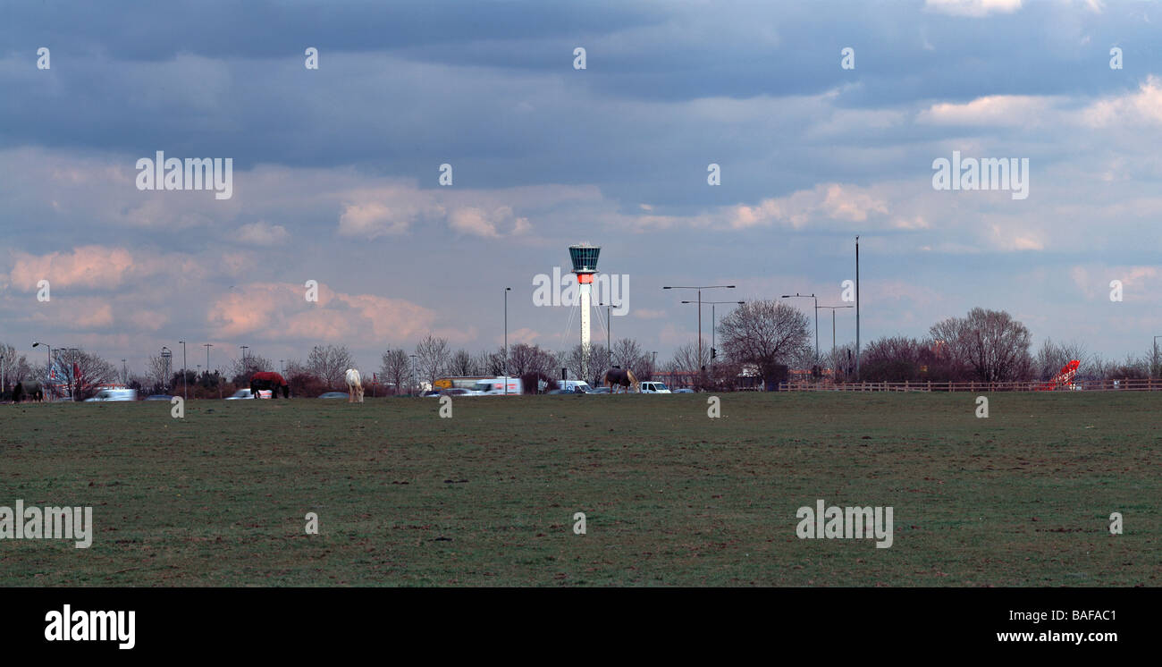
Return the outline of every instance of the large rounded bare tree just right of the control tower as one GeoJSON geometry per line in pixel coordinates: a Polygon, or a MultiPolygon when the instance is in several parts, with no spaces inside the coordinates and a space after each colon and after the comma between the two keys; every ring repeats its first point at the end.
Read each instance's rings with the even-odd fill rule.
{"type": "Polygon", "coordinates": [[[727,358],[753,364],[766,382],[775,366],[787,364],[809,346],[808,317],[777,301],[747,301],[718,321],[718,337],[727,358]]]}

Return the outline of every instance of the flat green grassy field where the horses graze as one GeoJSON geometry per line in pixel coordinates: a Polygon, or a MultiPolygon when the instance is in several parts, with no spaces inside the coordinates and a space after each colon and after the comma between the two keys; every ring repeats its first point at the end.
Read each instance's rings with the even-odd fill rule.
{"type": "Polygon", "coordinates": [[[1162,396],[720,397],[0,406],[0,505],[95,523],[0,540],[0,584],[1162,584],[1162,396]],[[818,499],[894,545],[798,539],[818,499]]]}

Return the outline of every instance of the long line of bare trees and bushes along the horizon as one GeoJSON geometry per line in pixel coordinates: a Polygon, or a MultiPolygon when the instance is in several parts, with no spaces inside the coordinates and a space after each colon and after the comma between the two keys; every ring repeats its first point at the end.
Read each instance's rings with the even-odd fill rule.
{"type": "MultiPolygon", "coordinates": [[[[837,346],[816,358],[811,345],[811,328],[799,309],[774,300],[748,301],[731,310],[717,325],[717,350],[691,342],[674,351],[660,368],[676,386],[694,386],[727,390],[743,386],[772,386],[788,378],[789,370],[809,370],[818,379],[855,381],[854,345],[837,346]]],[[[927,336],[910,338],[885,336],[868,343],[860,354],[859,380],[870,382],[930,381],[1047,381],[1069,360],[1081,360],[1078,379],[1146,379],[1162,375],[1159,359],[1149,350],[1142,356],[1129,354],[1124,360],[1104,360],[1086,351],[1081,343],[1057,343],[1046,338],[1032,351],[1030,330],[1004,310],[974,308],[963,317],[948,317],[933,324],[927,336]]],[[[92,396],[100,386],[123,379],[113,364],[94,353],[78,349],[53,350],[56,382],[62,393],[78,400],[92,396]]],[[[538,345],[517,343],[472,353],[453,350],[446,338],[429,333],[411,352],[403,347],[387,349],[376,371],[365,371],[370,382],[376,373],[373,392],[413,393],[419,386],[431,387],[445,375],[496,376],[509,374],[525,380],[525,387],[545,381],[555,386],[561,370],[571,378],[581,378],[593,386],[601,385],[610,367],[629,368],[639,380],[658,375],[653,354],[632,338],[565,351],[551,351],[538,345]]],[[[13,345],[0,343],[0,395],[10,395],[16,382],[49,376],[49,364],[35,364],[17,354],[13,345]]],[[[329,390],[346,390],[344,373],[356,367],[346,345],[316,345],[306,360],[286,360],[284,375],[296,396],[317,396],[329,390]]],[[[160,356],[151,357],[143,375],[132,374],[128,386],[144,393],[178,393],[187,389],[192,397],[229,395],[246,387],[257,371],[272,371],[274,364],[257,353],[232,359],[220,371],[200,373],[167,367],[160,356]]]]}

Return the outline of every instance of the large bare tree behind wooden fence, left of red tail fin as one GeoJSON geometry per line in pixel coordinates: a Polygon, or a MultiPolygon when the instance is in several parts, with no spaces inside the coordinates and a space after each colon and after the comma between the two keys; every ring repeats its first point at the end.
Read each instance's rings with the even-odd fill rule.
{"type": "Polygon", "coordinates": [[[954,360],[968,364],[984,382],[1027,380],[1033,358],[1028,329],[1004,310],[974,308],[966,317],[949,317],[932,325],[954,360]]]}

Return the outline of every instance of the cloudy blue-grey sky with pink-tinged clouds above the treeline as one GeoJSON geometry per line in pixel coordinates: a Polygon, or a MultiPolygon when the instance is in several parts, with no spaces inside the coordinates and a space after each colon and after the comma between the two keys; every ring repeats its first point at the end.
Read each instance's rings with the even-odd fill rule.
{"type": "Polygon", "coordinates": [[[865,344],[984,307],[1141,354],[1160,28],[1097,0],[0,2],[0,340],[137,372],[178,340],[191,367],[342,344],[374,371],[428,333],[498,349],[507,294],[510,344],[565,350],[578,314],[535,286],[588,242],[614,338],[661,360],[698,327],[664,286],[842,306],[859,236],[865,344]],[[230,158],[230,198],[141,189],[158,151],[230,158]],[[1027,196],[937,189],[954,152],[1027,164],[1027,196]]]}

